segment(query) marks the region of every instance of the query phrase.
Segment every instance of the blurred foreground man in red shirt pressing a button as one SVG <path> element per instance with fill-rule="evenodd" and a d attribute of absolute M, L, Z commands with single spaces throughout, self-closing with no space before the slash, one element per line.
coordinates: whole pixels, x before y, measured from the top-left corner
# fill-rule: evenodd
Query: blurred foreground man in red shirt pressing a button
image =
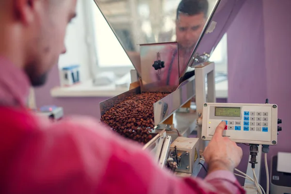
<path fill-rule="evenodd" d="M 1 194 L 237 194 L 233 175 L 242 149 L 222 137 L 221 123 L 204 152 L 207 177 L 178 178 L 142 147 L 90 118 L 43 120 L 25 108 L 65 53 L 76 0 L 0 0 Z"/>

